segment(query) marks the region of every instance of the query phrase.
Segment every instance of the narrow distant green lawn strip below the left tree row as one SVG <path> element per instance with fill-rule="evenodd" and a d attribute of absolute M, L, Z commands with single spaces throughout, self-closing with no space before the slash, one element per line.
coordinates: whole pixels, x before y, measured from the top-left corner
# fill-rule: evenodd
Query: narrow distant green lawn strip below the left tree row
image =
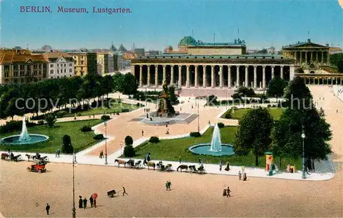
<path fill-rule="evenodd" d="M 126 103 L 113 103 L 111 108 L 106 108 L 106 107 L 99 107 L 99 108 L 94 108 L 91 110 L 85 110 L 82 112 L 76 112 L 76 116 L 88 116 L 88 115 L 96 115 L 96 114 L 104 114 L 105 110 L 107 114 L 112 114 L 112 113 L 121 113 L 122 109 L 128 109 L 129 111 L 136 110 L 137 105 L 135 104 L 126 104 Z M 74 117 L 74 113 L 70 114 L 65 114 L 64 117 Z"/>

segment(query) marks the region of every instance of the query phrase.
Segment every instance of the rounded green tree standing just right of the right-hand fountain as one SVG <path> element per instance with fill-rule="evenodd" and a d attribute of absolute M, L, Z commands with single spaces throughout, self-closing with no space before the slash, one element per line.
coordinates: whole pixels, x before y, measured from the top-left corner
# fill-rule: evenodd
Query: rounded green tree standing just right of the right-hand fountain
<path fill-rule="evenodd" d="M 264 154 L 271 143 L 270 132 L 273 119 L 266 108 L 248 110 L 239 120 L 234 143 L 235 153 L 255 154 L 255 165 L 259 165 L 259 156 Z"/>

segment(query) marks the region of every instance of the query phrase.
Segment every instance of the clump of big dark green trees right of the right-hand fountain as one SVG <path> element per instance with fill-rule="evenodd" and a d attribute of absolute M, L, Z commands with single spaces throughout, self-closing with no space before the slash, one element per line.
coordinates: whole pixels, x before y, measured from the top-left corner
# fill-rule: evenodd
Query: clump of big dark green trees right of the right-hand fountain
<path fill-rule="evenodd" d="M 235 138 L 235 152 L 255 154 L 258 158 L 267 151 L 280 158 L 299 158 L 303 154 L 305 133 L 305 158 L 317 160 L 327 158 L 331 153 L 328 141 L 331 139 L 330 125 L 316 109 L 309 88 L 300 77 L 296 77 L 285 88 L 287 108 L 279 121 L 273 121 L 265 108 L 250 110 L 239 121 Z"/>

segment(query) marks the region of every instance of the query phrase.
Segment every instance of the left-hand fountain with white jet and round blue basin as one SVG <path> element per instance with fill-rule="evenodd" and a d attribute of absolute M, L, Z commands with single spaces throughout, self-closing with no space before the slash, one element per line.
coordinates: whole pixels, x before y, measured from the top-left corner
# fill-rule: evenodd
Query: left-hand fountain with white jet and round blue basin
<path fill-rule="evenodd" d="M 24 144 L 34 144 L 47 141 L 49 136 L 40 135 L 40 134 L 29 134 L 26 127 L 26 118 L 23 117 L 23 125 L 21 128 L 20 135 L 8 136 L 1 138 L 0 143 L 8 145 L 24 145 Z"/>

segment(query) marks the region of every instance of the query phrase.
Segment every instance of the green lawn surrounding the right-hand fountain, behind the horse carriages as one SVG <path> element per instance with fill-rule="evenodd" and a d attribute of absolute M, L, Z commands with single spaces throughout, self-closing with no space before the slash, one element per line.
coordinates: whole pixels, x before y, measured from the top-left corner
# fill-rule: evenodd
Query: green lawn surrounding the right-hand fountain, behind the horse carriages
<path fill-rule="evenodd" d="M 222 143 L 233 143 L 235 141 L 235 132 L 237 127 L 226 126 L 220 129 L 222 135 Z M 249 154 L 248 156 L 224 156 L 224 157 L 214 157 L 206 155 L 197 155 L 189 152 L 188 148 L 191 145 L 196 145 L 198 143 L 210 143 L 213 134 L 213 128 L 209 128 L 202 137 L 193 138 L 177 138 L 169 140 L 161 140 L 159 143 L 143 143 L 138 147 L 135 147 L 136 157 L 144 158 L 147 152 L 151 153 L 153 160 L 174 160 L 178 161 L 178 157 L 181 156 L 182 161 L 187 162 L 198 162 L 199 158 L 202 158 L 204 163 L 214 163 L 218 164 L 222 159 L 224 162 L 229 161 L 230 165 L 244 165 L 244 166 L 255 166 L 255 156 Z M 265 167 L 265 156 L 259 158 L 259 167 Z M 277 160 L 278 162 L 279 160 Z M 293 160 L 282 160 L 283 166 L 285 167 L 287 163 L 294 163 L 296 166 L 301 166 L 301 159 Z M 279 165 L 278 165 L 279 166 Z"/>

